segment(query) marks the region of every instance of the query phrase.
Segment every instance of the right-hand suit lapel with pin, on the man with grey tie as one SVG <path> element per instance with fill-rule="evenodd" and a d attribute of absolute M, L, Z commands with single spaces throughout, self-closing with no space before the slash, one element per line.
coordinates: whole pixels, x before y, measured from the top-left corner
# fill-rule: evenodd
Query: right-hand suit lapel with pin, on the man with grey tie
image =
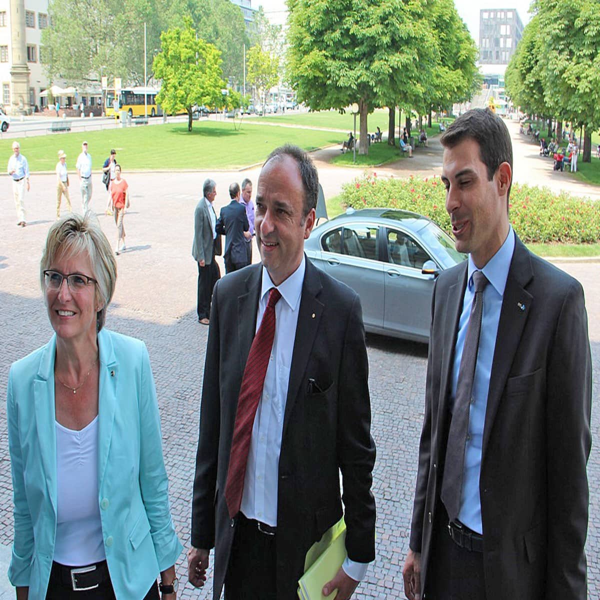
<path fill-rule="evenodd" d="M 533 296 L 525 289 L 532 277 L 533 269 L 529 251 L 520 239 L 516 238 L 511 268 L 506 278 L 502 308 L 500 309 L 500 321 L 490 374 L 490 389 L 488 390 L 487 408 L 485 410 L 482 461 L 485 457 L 487 443 L 490 440 L 491 429 L 506 385 L 506 379 L 521 342 L 521 335 L 527 317 L 532 309 Z M 521 310 L 521 306 L 525 310 Z"/>

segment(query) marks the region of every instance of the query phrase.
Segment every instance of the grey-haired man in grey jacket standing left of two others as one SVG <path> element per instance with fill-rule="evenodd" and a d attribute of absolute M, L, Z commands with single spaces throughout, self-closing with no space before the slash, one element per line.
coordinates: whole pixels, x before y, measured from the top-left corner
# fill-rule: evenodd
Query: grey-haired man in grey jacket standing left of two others
<path fill-rule="evenodd" d="M 221 277 L 215 251 L 217 250 L 217 215 L 212 203 L 217 196 L 217 184 L 212 179 L 206 179 L 202 193 L 204 194 L 194 211 L 194 243 L 191 254 L 198 263 L 198 293 L 197 313 L 198 322 L 208 325 L 211 314 L 212 288 Z"/>

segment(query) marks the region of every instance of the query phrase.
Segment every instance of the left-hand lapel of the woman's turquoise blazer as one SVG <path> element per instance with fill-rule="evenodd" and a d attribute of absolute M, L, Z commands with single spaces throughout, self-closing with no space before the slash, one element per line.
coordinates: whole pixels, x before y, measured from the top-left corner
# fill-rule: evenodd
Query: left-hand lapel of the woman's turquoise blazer
<path fill-rule="evenodd" d="M 54 397 L 54 362 L 56 334 L 46 346 L 34 379 L 35 425 L 40 443 L 41 462 L 56 514 L 56 407 Z"/>

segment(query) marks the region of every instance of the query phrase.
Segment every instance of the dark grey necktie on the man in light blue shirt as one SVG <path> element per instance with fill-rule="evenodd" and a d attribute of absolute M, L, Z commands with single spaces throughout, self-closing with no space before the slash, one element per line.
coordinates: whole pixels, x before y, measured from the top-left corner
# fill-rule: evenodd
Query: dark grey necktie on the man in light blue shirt
<path fill-rule="evenodd" d="M 463 491 L 464 449 L 469 432 L 469 407 L 472 402 L 473 378 L 479 349 L 481 316 L 484 308 L 484 289 L 488 280 L 481 271 L 473 273 L 475 298 L 471 306 L 467 335 L 464 338 L 463 356 L 458 369 L 458 383 L 454 410 L 448 433 L 446 461 L 442 482 L 442 502 L 448 517 L 454 521 L 458 517 L 460 498 Z"/>

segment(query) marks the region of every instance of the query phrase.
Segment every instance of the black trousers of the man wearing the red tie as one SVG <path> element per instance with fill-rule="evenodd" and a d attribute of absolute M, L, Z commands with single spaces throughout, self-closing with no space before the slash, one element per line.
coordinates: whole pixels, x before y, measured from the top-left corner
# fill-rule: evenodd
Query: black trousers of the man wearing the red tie
<path fill-rule="evenodd" d="M 225 600 L 283 600 L 277 598 L 276 535 L 261 533 L 256 521 L 239 514 L 225 575 Z"/>

